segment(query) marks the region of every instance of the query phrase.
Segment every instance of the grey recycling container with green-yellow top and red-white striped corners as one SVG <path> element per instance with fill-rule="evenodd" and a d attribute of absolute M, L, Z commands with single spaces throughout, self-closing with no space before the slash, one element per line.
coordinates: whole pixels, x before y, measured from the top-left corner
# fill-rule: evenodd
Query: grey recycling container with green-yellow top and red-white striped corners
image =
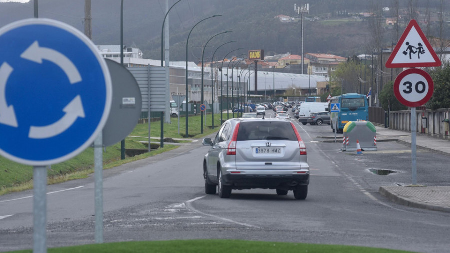
<path fill-rule="evenodd" d="M 376 151 L 376 128 L 369 121 L 350 121 L 345 124 L 342 151 L 357 151 L 359 142 L 363 151 Z"/>

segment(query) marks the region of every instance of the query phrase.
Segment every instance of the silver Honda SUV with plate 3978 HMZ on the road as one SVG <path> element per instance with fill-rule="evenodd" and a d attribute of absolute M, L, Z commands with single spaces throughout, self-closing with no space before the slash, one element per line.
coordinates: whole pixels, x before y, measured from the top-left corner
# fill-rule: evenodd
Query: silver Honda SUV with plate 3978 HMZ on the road
<path fill-rule="evenodd" d="M 203 160 L 206 194 L 229 198 L 233 189 L 276 189 L 278 195 L 293 190 L 306 199 L 309 165 L 306 146 L 294 124 L 269 118 L 233 118 L 225 121 Z"/>

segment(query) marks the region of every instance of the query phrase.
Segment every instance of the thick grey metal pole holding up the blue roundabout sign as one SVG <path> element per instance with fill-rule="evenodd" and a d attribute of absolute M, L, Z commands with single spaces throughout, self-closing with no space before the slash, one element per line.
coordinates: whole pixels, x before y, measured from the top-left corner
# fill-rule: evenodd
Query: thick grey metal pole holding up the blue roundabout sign
<path fill-rule="evenodd" d="M 33 167 L 33 252 L 47 252 L 47 167 Z"/>

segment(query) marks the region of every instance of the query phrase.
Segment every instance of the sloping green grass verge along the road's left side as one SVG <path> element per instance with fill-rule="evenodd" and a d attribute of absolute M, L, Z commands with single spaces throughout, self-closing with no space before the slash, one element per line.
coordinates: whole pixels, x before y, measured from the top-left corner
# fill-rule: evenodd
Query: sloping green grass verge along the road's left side
<path fill-rule="evenodd" d="M 200 116 L 189 116 L 189 136 L 200 138 L 217 131 L 220 126 L 220 114 L 215 114 L 214 117 L 214 126 L 216 127 L 212 129 L 212 117 L 211 115 L 208 115 L 208 121 L 204 127 L 203 134 L 201 134 Z M 184 132 L 185 135 L 185 118 L 181 117 L 180 119 L 180 132 Z M 150 137 L 160 137 L 161 122 L 151 122 L 150 130 Z M 148 149 L 148 146 L 145 143 L 138 141 L 148 141 L 148 123 L 136 125 L 134 130 L 129 135 L 138 137 L 126 137 L 126 149 Z M 171 124 L 164 123 L 164 138 L 183 138 L 184 135 L 178 134 L 178 118 L 171 118 Z M 152 139 L 152 141 L 154 140 Z M 185 143 L 189 141 L 179 142 Z M 152 155 L 157 155 L 161 152 L 170 151 L 174 148 L 177 148 L 177 146 L 170 145 L 170 143 L 165 142 L 163 148 L 158 148 L 150 153 L 144 153 L 133 157 L 126 156 L 124 160 L 121 160 L 120 143 L 117 143 L 105 148 L 105 151 L 103 152 L 103 168 L 108 169 L 138 159 L 144 159 Z M 93 171 L 94 149 L 89 147 L 70 160 L 51 165 L 47 170 L 47 182 L 48 184 L 55 184 L 73 179 L 86 178 L 89 174 L 92 174 Z M 0 195 L 32 189 L 32 178 L 32 166 L 16 163 L 0 156 Z"/>

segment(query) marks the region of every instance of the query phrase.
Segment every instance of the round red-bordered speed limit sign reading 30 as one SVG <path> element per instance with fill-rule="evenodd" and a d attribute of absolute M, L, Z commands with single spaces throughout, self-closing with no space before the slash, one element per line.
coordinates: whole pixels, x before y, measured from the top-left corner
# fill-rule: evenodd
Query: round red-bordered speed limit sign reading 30
<path fill-rule="evenodd" d="M 422 106 L 431 98 L 433 91 L 431 76 L 421 69 L 404 70 L 395 78 L 395 97 L 408 107 Z"/>

